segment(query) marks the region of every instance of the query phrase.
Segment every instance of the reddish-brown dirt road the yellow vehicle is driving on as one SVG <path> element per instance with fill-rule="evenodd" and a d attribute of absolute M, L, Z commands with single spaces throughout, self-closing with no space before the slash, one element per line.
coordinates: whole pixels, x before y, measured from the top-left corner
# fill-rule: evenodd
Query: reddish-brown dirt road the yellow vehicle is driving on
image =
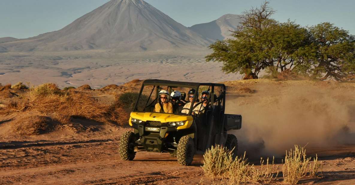
<path fill-rule="evenodd" d="M 117 146 L 118 140 L 113 139 L 2 142 L 0 185 L 212 183 L 203 175 L 201 155 L 191 166 L 178 165 L 167 153 L 140 152 L 133 161 L 122 161 Z M 322 178 L 304 179 L 301 183 L 355 183 L 355 145 L 317 150 L 323 150 L 324 156 L 324 151 L 331 151 L 330 156 L 321 157 Z"/>

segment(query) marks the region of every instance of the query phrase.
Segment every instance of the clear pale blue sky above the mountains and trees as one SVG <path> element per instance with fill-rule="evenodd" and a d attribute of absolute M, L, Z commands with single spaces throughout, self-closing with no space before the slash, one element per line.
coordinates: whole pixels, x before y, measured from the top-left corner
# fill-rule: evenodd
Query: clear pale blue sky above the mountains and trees
<path fill-rule="evenodd" d="M 27 38 L 55 31 L 109 0 L 0 0 L 0 37 Z M 146 0 L 185 26 L 240 14 L 263 0 Z M 278 21 L 302 26 L 331 22 L 355 35 L 355 0 L 270 0 Z"/>

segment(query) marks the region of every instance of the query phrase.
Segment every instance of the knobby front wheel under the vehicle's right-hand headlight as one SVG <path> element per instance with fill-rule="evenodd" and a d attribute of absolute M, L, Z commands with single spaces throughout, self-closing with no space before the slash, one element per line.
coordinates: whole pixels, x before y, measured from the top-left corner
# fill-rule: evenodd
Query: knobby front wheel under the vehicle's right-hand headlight
<path fill-rule="evenodd" d="M 190 165 L 193 160 L 193 155 L 195 155 L 195 143 L 193 139 L 189 136 L 181 137 L 176 151 L 178 163 L 183 166 Z"/>

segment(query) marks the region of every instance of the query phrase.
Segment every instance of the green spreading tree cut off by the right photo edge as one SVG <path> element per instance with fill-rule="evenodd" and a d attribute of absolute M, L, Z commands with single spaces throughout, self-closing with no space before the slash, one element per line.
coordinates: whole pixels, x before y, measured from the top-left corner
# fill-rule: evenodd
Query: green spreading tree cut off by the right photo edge
<path fill-rule="evenodd" d="M 313 78 L 342 81 L 355 73 L 355 37 L 329 22 L 309 28 L 316 44 Z"/>

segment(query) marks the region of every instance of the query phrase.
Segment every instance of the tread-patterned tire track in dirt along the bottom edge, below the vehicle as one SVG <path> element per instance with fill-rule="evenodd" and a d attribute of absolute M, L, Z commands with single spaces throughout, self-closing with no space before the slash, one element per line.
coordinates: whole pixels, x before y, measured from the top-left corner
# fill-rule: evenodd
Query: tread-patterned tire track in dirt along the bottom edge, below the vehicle
<path fill-rule="evenodd" d="M 175 171 L 175 170 L 155 171 L 155 172 L 151 172 L 151 173 L 116 176 L 116 177 L 107 178 L 107 179 L 88 180 L 88 181 L 83 182 L 83 184 L 92 184 L 92 185 L 136 184 L 137 180 L 139 180 L 140 183 L 151 183 L 151 182 L 159 181 L 159 180 L 163 180 L 163 179 L 176 178 L 176 175 L 179 175 L 181 173 L 183 173 L 183 171 Z"/>

